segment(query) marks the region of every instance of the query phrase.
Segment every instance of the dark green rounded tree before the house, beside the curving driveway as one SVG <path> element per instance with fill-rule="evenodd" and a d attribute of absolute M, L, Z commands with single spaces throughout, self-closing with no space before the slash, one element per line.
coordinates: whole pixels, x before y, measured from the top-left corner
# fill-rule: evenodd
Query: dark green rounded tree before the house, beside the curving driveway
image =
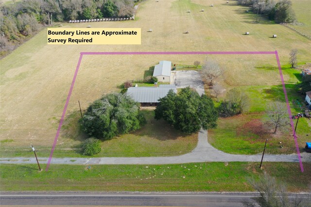
<path fill-rule="evenodd" d="M 178 95 L 170 90 L 159 101 L 155 118 L 163 118 L 176 129 L 192 133 L 217 126 L 218 115 L 213 101 L 206 95 L 199 96 L 190 87 L 183 88 Z"/>

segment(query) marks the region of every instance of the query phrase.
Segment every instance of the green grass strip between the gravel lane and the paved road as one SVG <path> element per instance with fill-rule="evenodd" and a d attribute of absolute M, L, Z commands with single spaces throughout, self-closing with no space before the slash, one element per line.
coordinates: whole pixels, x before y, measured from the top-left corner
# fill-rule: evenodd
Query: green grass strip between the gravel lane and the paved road
<path fill-rule="evenodd" d="M 264 162 L 262 170 L 247 162 L 87 167 L 51 165 L 38 172 L 35 164 L 1 164 L 1 191 L 254 191 L 247 178 L 264 171 L 289 191 L 308 191 L 311 184 L 310 163 L 304 163 L 305 173 L 298 163 L 283 162 Z"/>

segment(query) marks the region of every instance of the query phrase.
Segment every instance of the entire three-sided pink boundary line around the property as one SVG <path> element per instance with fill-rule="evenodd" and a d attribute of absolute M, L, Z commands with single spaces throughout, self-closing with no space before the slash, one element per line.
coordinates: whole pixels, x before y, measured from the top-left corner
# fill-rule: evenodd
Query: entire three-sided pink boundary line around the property
<path fill-rule="evenodd" d="M 45 171 L 49 170 L 49 167 L 50 167 L 50 164 L 51 164 L 53 152 L 54 152 L 54 149 L 55 149 L 55 146 L 56 146 L 56 143 L 57 143 L 57 139 L 59 137 L 60 129 L 61 129 L 62 125 L 63 125 L 63 121 L 64 121 L 65 114 L 66 114 L 66 111 L 67 111 L 67 107 L 68 107 L 68 104 L 69 104 L 69 99 L 70 99 L 70 96 L 71 96 L 71 93 L 72 93 L 72 89 L 73 89 L 76 77 L 78 75 L 78 71 L 79 71 L 79 67 L 80 67 L 83 55 L 200 55 L 200 54 L 201 55 L 208 55 L 208 54 L 210 54 L 210 55 L 275 54 L 276 55 L 277 65 L 278 65 L 278 69 L 279 69 L 279 73 L 280 73 L 280 77 L 281 77 L 281 81 L 282 81 L 283 92 L 284 92 L 284 95 L 285 95 L 287 110 L 288 110 L 288 113 L 289 113 L 289 116 L 290 116 L 291 126 L 292 126 L 292 129 L 293 129 L 293 132 L 294 132 L 294 122 L 293 122 L 293 119 L 292 119 L 292 112 L 291 112 L 291 109 L 290 109 L 290 106 L 289 106 L 289 102 L 288 102 L 288 97 L 287 97 L 287 93 L 286 93 L 285 83 L 284 83 L 284 79 L 283 79 L 282 69 L 281 69 L 281 65 L 280 65 L 280 62 L 279 62 L 277 50 L 274 51 L 274 52 L 272 52 L 272 51 L 234 51 L 234 52 L 233 51 L 227 51 L 227 52 L 225 52 L 225 51 L 223 51 L 223 52 L 80 52 L 80 58 L 79 58 L 79 61 L 78 61 L 78 64 L 77 64 L 77 67 L 76 67 L 76 70 L 75 70 L 72 82 L 71 82 L 71 86 L 70 86 L 70 89 L 69 89 L 69 93 L 68 93 L 68 96 L 67 96 L 67 100 L 66 100 L 66 103 L 65 103 L 63 114 L 62 114 L 62 117 L 60 119 L 60 122 L 59 122 L 59 125 L 58 125 L 58 128 L 57 128 L 55 139 L 54 139 L 54 142 L 53 142 L 53 145 L 52 145 L 51 154 L 50 154 L 50 157 L 49 157 L 49 160 L 48 160 L 47 167 L 46 167 Z M 299 151 L 299 147 L 298 147 L 298 143 L 297 143 L 297 137 L 296 137 L 295 134 L 294 134 L 294 141 L 295 141 L 297 155 L 298 155 L 298 159 L 299 159 L 299 163 L 300 163 L 300 169 L 301 169 L 301 172 L 303 172 L 304 171 L 303 170 L 303 165 L 302 165 L 300 151 Z"/>

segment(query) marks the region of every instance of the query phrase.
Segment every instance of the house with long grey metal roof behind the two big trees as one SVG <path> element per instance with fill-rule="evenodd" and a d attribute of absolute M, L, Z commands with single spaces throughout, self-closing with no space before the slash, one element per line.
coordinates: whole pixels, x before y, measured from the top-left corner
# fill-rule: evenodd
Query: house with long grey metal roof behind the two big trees
<path fill-rule="evenodd" d="M 160 85 L 159 87 L 130 87 L 127 96 L 131 96 L 140 106 L 156 106 L 158 99 L 166 96 L 170 90 L 177 93 L 175 85 Z"/>

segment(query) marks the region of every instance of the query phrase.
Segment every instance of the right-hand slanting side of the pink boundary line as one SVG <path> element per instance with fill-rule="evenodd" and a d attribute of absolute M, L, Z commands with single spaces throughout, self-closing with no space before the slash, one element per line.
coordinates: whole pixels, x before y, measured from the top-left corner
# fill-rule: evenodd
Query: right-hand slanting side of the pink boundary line
<path fill-rule="evenodd" d="M 288 112 L 288 114 L 290 116 L 290 121 L 291 121 L 292 130 L 293 130 L 293 136 L 294 136 L 294 141 L 295 141 L 297 155 L 298 155 L 299 164 L 300 164 L 300 170 L 301 170 L 301 172 L 303 172 L 304 169 L 303 169 L 303 165 L 302 165 L 302 161 L 301 161 L 301 155 L 300 155 L 300 150 L 299 150 L 299 146 L 298 146 L 298 142 L 297 142 L 297 136 L 296 136 L 296 132 L 295 132 L 295 128 L 294 128 L 294 121 L 293 121 L 293 118 L 292 118 L 292 111 L 291 111 L 290 104 L 289 104 L 288 97 L 287 97 L 285 82 L 284 82 L 282 68 L 281 68 L 280 60 L 278 58 L 277 50 L 275 51 L 275 54 L 276 54 L 276 62 L 277 62 L 277 66 L 278 66 L 278 72 L 280 73 L 280 77 L 281 77 L 281 81 L 282 81 L 282 87 L 283 87 L 283 92 L 284 92 L 284 95 L 285 95 L 285 101 L 286 101 L 286 105 L 287 105 L 287 112 Z"/>

